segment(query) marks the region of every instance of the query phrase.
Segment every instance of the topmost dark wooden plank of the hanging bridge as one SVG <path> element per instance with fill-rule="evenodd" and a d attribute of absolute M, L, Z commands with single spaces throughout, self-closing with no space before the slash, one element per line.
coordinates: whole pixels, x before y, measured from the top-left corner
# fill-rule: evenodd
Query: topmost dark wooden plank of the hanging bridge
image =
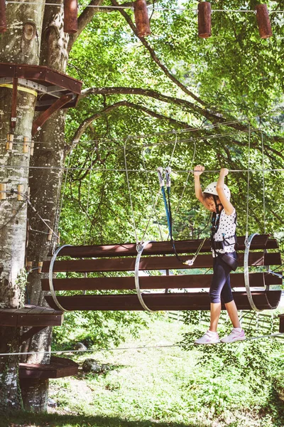
<path fill-rule="evenodd" d="M 244 251 L 245 236 L 238 237 L 238 250 Z M 175 248 L 178 253 L 195 253 L 202 240 L 176 241 Z M 268 239 L 268 235 L 260 235 L 253 238 L 251 250 L 276 249 L 278 243 L 274 238 Z M 204 242 L 201 252 L 210 252 L 209 239 Z M 173 253 L 170 241 L 152 242 L 144 249 L 145 255 L 169 255 Z M 94 245 L 94 246 L 66 246 L 60 251 L 60 256 L 68 255 L 72 258 L 99 258 L 116 256 L 136 256 L 136 243 L 117 243 L 114 245 Z"/>

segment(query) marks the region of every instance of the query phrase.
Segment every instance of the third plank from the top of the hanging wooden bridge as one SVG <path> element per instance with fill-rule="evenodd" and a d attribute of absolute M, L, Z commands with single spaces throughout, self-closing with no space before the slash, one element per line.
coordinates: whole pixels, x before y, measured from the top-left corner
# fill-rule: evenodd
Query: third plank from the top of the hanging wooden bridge
<path fill-rule="evenodd" d="M 282 285 L 282 279 L 266 275 L 266 273 L 251 273 L 251 287 L 263 286 L 264 278 L 266 285 Z M 141 289 L 165 289 L 165 288 L 209 288 L 212 281 L 212 274 L 192 274 L 192 275 L 158 275 L 142 276 L 139 278 Z M 111 277 L 111 278 L 70 278 L 53 279 L 55 290 L 131 290 L 135 289 L 134 277 Z M 243 288 L 244 274 L 231 274 L 231 287 Z M 43 290 L 50 290 L 49 280 L 42 279 Z"/>

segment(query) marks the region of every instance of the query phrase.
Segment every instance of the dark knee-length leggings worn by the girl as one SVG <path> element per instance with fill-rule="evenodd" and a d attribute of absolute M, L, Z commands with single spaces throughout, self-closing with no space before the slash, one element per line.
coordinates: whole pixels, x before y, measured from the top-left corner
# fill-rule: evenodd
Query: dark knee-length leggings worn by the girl
<path fill-rule="evenodd" d="M 230 253 L 236 258 L 236 253 Z M 224 263 L 221 256 L 213 258 L 213 278 L 209 290 L 210 302 L 231 302 L 234 300 L 230 284 L 231 267 Z"/>

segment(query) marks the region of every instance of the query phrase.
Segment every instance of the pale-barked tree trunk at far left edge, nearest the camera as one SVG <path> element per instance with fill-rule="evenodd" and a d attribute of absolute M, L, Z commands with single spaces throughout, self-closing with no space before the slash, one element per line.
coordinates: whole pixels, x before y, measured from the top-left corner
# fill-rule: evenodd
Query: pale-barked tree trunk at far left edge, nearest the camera
<path fill-rule="evenodd" d="M 0 38 L 0 62 L 38 64 L 38 46 L 43 20 L 43 6 L 30 4 L 9 4 L 6 10 L 8 30 Z M 18 90 L 16 127 L 11 126 L 11 88 L 0 88 L 0 113 L 2 141 L 1 183 L 7 191 L 28 194 L 29 154 L 23 154 L 23 138 L 31 140 L 31 128 L 35 108 L 35 96 Z M 13 125 L 13 123 L 12 123 Z M 14 134 L 14 144 L 6 151 L 7 134 Z M 0 201 L 0 304 L 1 307 L 18 308 L 23 305 L 26 285 L 25 246 L 27 206 L 18 201 L 17 194 L 6 194 Z M 18 352 L 19 330 L 2 327 L 0 334 L 1 352 Z M 18 386 L 18 357 L 0 359 L 0 413 L 9 413 L 21 408 L 21 394 Z"/>

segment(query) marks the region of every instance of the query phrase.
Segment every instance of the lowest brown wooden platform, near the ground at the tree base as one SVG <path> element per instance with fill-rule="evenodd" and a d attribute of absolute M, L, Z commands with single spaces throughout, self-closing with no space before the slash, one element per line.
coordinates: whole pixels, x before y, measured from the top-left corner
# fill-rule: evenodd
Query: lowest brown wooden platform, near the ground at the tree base
<path fill-rule="evenodd" d="M 79 365 L 71 359 L 52 356 L 50 364 L 20 363 L 18 376 L 21 380 L 62 378 L 63 376 L 77 375 L 78 368 Z"/>

